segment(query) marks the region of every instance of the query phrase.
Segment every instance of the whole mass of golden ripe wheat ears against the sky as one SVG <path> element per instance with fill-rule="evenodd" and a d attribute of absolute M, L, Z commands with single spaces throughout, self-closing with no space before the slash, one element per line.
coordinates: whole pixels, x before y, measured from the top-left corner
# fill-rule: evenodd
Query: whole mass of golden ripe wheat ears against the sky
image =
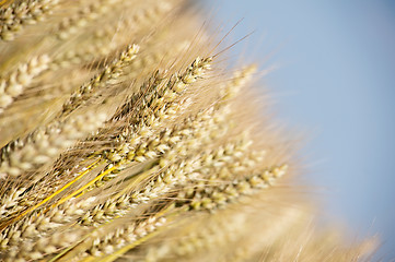
<path fill-rule="evenodd" d="M 190 2 L 0 4 L 0 261 L 362 258 Z"/>

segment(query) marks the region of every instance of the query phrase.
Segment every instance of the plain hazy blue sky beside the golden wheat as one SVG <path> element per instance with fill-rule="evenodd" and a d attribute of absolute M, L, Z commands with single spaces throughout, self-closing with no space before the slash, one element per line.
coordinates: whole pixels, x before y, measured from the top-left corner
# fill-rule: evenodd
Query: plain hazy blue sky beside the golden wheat
<path fill-rule="evenodd" d="M 265 76 L 280 121 L 309 134 L 302 151 L 326 217 L 357 239 L 379 235 L 395 259 L 395 1 L 205 1 L 226 56 L 276 67 Z M 222 32 L 222 33 L 224 33 Z"/>

